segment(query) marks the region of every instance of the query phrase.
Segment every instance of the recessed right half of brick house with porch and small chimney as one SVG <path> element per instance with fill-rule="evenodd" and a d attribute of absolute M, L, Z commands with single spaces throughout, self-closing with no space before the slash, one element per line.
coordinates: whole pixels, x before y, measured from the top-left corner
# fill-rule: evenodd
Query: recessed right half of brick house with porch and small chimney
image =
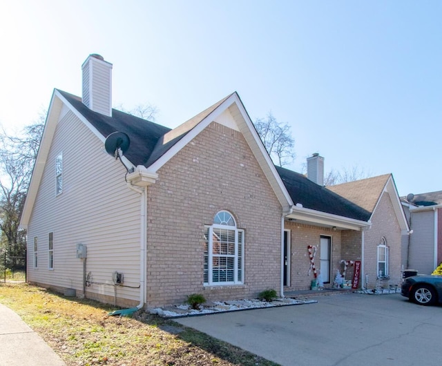
<path fill-rule="evenodd" d="M 325 287 L 339 271 L 351 281 L 361 262 L 359 287 L 401 283 L 401 234 L 408 232 L 392 175 L 336 186 L 323 186 L 324 158 L 307 159 L 307 177 L 278 168 L 295 206 L 286 217 L 291 271 L 286 291 L 309 286 L 311 261 L 307 247 L 316 247 L 315 267 Z M 318 183 L 316 183 L 318 182 Z"/>

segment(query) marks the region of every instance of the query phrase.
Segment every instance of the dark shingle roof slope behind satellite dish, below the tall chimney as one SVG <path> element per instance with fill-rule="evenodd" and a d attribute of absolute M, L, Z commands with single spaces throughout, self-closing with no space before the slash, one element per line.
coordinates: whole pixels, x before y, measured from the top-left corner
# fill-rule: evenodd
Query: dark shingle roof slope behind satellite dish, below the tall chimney
<path fill-rule="evenodd" d="M 160 137 L 171 131 L 171 128 L 116 109 L 112 110 L 112 117 L 93 112 L 81 102 L 81 98 L 61 90 L 58 91 L 104 137 L 108 137 L 115 131 L 126 133 L 131 139 L 131 145 L 124 155 L 135 166 L 146 164 Z"/>

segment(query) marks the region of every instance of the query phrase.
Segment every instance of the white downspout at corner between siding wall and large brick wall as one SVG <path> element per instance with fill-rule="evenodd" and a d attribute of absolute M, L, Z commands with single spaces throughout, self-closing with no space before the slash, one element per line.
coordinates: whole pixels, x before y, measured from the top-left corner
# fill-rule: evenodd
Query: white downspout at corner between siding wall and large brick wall
<path fill-rule="evenodd" d="M 128 187 L 140 193 L 140 304 L 137 309 L 142 309 L 146 303 L 146 207 L 147 207 L 147 187 L 142 189 L 128 183 Z"/>

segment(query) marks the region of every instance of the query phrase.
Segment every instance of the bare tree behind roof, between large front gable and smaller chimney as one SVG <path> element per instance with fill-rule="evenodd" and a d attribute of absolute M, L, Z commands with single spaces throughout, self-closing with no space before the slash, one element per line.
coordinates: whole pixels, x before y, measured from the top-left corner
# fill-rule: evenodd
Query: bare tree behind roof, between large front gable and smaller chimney
<path fill-rule="evenodd" d="M 256 119 L 254 125 L 273 162 L 284 166 L 294 161 L 295 140 L 291 137 L 291 127 L 287 122 L 278 122 L 269 112 L 265 119 Z"/>

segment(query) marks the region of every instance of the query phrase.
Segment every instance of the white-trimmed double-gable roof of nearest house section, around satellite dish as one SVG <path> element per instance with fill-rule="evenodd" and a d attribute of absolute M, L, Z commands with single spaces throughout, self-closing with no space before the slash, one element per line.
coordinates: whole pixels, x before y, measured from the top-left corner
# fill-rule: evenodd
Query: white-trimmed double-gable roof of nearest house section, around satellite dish
<path fill-rule="evenodd" d="M 122 157 L 123 160 L 132 165 L 134 173 L 127 175 L 127 179 L 133 182 L 140 182 L 139 177 L 146 177 L 144 182 L 154 182 L 157 171 L 178 153 L 191 139 L 200 133 L 211 122 L 220 117 L 226 110 L 229 111 L 239 131 L 246 139 L 253 155 L 267 177 L 282 211 L 287 212 L 293 205 L 290 195 L 285 189 L 275 166 L 271 162 L 269 154 L 265 150 L 253 123 L 241 102 L 238 93 L 221 99 L 195 117 L 189 119 L 177 128 L 171 129 L 154 122 L 123 113 L 119 110 L 112 110 L 112 116 L 102 115 L 90 110 L 82 102 L 81 98 L 66 93 L 62 90 L 54 90 L 44 133 L 41 138 L 39 153 L 35 162 L 32 178 L 28 189 L 23 214 L 21 215 L 20 226 L 28 226 L 32 206 L 37 197 L 37 191 L 43 175 L 44 166 L 49 154 L 52 138 L 55 133 L 61 110 L 66 106 L 92 131 L 102 142 L 113 132 L 126 133 L 131 144 L 128 151 Z M 142 179 L 141 179 L 142 180 Z M 146 185 L 146 184 L 144 184 Z"/>

